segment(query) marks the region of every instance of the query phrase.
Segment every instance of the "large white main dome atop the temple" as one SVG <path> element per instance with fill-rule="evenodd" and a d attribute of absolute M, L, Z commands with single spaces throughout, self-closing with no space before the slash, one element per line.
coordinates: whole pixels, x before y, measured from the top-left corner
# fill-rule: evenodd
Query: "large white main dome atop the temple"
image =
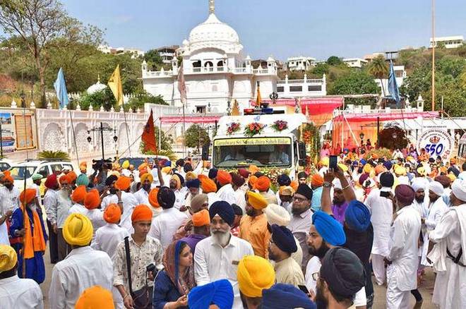
<path fill-rule="evenodd" d="M 239 36 L 233 28 L 218 20 L 214 13 L 210 13 L 205 22 L 197 25 L 189 33 L 189 43 L 201 42 L 230 42 L 239 44 Z"/>

